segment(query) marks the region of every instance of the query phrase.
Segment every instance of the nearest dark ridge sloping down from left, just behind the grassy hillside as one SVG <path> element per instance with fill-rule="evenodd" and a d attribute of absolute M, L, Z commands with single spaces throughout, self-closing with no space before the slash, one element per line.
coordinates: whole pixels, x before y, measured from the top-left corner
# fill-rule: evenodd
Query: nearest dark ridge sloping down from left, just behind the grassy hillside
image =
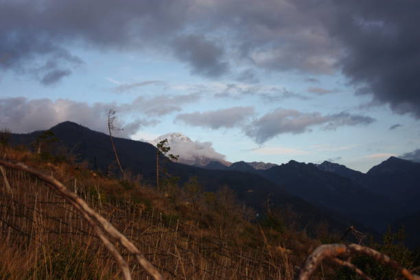
<path fill-rule="evenodd" d="M 67 152 L 78 156 L 80 161 L 87 161 L 93 169 L 104 172 L 110 165 L 115 164 L 115 155 L 110 146 L 109 136 L 102 132 L 95 132 L 71 121 L 65 121 L 51 128 L 54 135 L 60 139 L 59 145 Z M 41 131 L 22 135 L 12 135 L 15 144 L 30 145 Z M 114 137 L 119 159 L 124 170 L 132 174 L 141 174 L 143 180 L 154 184 L 156 176 L 156 148 L 150 143 Z M 264 204 L 270 196 L 270 203 L 277 207 L 292 207 L 301 215 L 299 220 L 302 227 L 311 226 L 327 221 L 334 229 L 345 229 L 352 220 L 327 208 L 315 207 L 301 198 L 290 196 L 279 185 L 270 182 L 259 174 L 240 172 L 235 170 L 209 170 L 191 165 L 173 163 L 161 160 L 169 174 L 180 177 L 180 185 L 191 176 L 197 176 L 198 181 L 206 191 L 216 191 L 226 185 L 233 189 L 238 198 L 242 199 L 258 212 L 264 211 Z M 244 163 L 246 164 L 246 163 Z M 240 163 L 240 165 L 243 165 Z M 249 166 L 249 165 L 248 165 Z M 253 170 L 253 167 L 250 167 Z M 356 223 L 357 224 L 357 223 Z"/>

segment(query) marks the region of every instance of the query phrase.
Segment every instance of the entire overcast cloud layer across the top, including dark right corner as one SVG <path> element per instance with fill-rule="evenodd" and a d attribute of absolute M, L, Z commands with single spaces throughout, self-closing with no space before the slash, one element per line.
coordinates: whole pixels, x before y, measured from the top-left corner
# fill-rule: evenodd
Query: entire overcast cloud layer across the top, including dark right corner
<path fill-rule="evenodd" d="M 0 68 L 55 60 L 36 75 L 48 84 L 80 65 L 77 44 L 174 54 L 210 78 L 234 65 L 311 79 L 340 70 L 359 94 L 420 118 L 419 10 L 418 0 L 0 1 Z"/>

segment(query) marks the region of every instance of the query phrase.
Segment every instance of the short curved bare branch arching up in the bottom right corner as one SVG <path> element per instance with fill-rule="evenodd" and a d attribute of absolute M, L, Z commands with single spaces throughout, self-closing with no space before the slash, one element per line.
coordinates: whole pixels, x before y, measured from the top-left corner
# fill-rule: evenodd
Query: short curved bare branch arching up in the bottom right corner
<path fill-rule="evenodd" d="M 360 277 L 364 279 L 370 279 L 364 273 L 355 267 L 353 264 L 349 263 L 348 261 L 343 261 L 342 259 L 338 259 L 340 256 L 354 255 L 354 254 L 363 254 L 368 255 L 369 257 L 380 261 L 382 264 L 390 266 L 398 270 L 404 278 L 408 280 L 420 280 L 419 275 L 412 274 L 408 269 L 402 267 L 397 261 L 390 259 L 384 253 L 380 253 L 377 250 L 373 250 L 372 248 L 368 248 L 365 246 L 360 246 L 358 244 L 325 244 L 321 245 L 312 252 L 312 254 L 307 257 L 305 261 L 305 265 L 301 269 L 299 273 L 298 280 L 308 280 L 314 274 L 316 268 L 320 265 L 323 259 L 330 259 L 334 261 L 336 264 L 340 264 L 341 266 L 346 266 L 351 268 L 353 271 L 358 273 Z"/>

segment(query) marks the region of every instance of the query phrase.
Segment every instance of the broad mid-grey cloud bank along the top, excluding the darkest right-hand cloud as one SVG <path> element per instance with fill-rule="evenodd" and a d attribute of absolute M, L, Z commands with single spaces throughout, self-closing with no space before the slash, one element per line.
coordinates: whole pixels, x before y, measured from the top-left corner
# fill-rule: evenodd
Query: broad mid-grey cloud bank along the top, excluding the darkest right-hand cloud
<path fill-rule="evenodd" d="M 329 73 L 336 49 L 319 23 L 287 0 L 1 1 L 0 34 L 1 67 L 21 73 L 53 56 L 73 69 L 77 58 L 67 49 L 74 43 L 169 51 L 192 73 L 213 78 L 228 73 L 235 58 L 253 67 Z M 249 74 L 240 78 L 255 80 Z"/>

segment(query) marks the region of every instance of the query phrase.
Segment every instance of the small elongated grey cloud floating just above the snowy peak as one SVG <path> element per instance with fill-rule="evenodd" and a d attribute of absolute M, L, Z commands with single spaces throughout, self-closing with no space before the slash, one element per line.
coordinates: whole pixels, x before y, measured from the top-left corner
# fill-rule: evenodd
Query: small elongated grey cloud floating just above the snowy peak
<path fill-rule="evenodd" d="M 220 110 L 209 110 L 206 112 L 194 112 L 178 114 L 175 121 L 183 121 L 190 126 L 201 126 L 204 128 L 233 128 L 240 126 L 254 114 L 253 107 L 232 107 Z"/>

